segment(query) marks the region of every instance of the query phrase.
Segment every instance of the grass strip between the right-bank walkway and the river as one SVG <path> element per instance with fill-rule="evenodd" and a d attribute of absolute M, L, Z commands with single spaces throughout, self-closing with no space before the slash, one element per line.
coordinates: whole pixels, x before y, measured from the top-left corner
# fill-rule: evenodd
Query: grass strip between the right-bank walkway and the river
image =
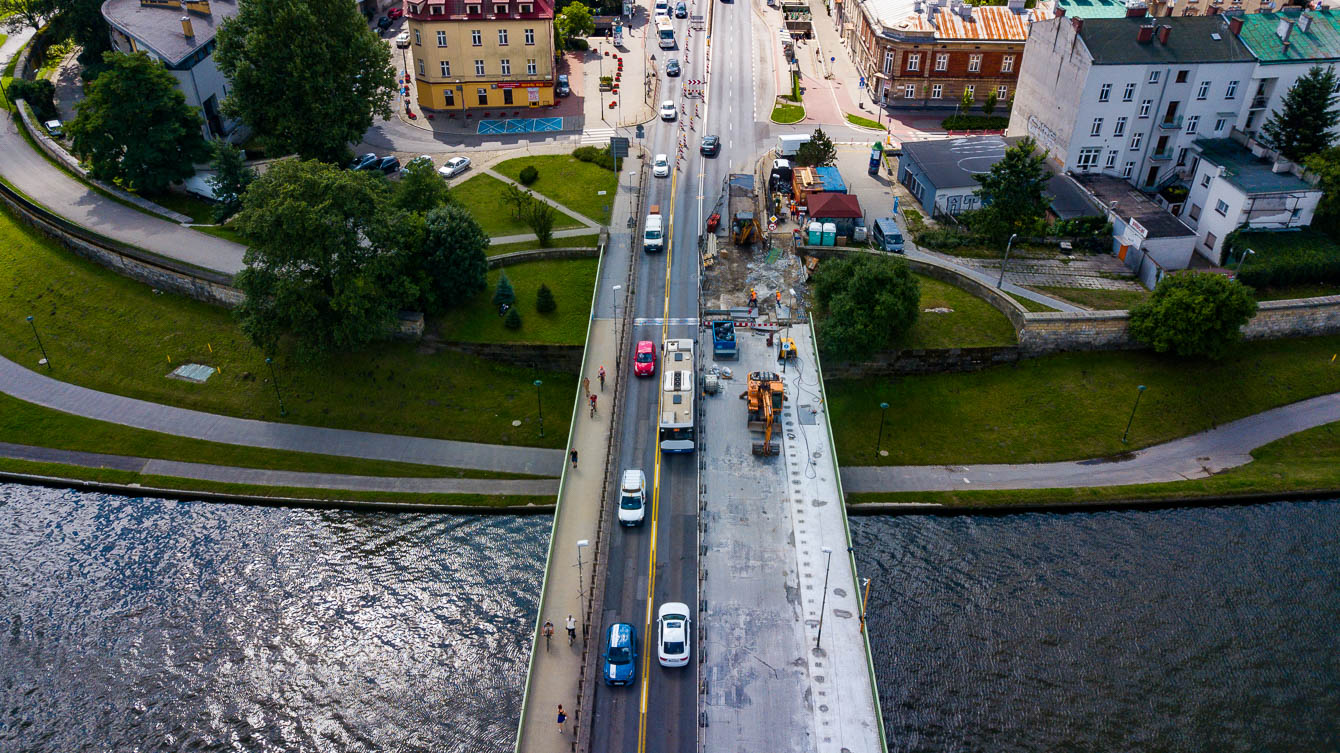
<path fill-rule="evenodd" d="M 1252 462 L 1209 478 L 1081 489 L 1004 489 L 848 494 L 852 504 L 925 502 L 947 506 L 1081 505 L 1116 501 L 1170 502 L 1205 497 L 1332 492 L 1340 489 L 1340 423 L 1308 429 L 1262 445 Z"/>

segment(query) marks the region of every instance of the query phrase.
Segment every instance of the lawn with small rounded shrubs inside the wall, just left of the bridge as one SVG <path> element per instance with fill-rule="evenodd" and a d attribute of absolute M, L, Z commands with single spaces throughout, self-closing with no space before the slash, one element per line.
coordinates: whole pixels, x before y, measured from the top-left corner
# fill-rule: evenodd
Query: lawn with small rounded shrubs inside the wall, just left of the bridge
<path fill-rule="evenodd" d="M 586 342 L 587 322 L 591 319 L 591 293 L 595 291 L 598 259 L 559 259 L 528 261 L 489 272 L 489 284 L 470 303 L 442 316 L 442 338 L 482 343 L 553 343 L 582 344 Z M 516 292 L 521 328 L 503 326 L 493 305 L 493 288 L 498 276 L 507 273 Z M 535 293 L 540 284 L 549 285 L 559 308 L 552 314 L 535 310 Z M 570 398 L 571 399 L 571 398 Z"/>

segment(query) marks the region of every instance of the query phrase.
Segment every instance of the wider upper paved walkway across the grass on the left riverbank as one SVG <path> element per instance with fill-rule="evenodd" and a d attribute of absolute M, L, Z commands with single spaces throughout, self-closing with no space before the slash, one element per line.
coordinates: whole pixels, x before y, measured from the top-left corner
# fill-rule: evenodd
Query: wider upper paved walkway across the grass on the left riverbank
<path fill-rule="evenodd" d="M 0 358 L 0 390 L 20 401 L 122 426 L 226 445 L 552 476 L 563 450 L 374 434 L 233 418 L 99 393 Z"/>

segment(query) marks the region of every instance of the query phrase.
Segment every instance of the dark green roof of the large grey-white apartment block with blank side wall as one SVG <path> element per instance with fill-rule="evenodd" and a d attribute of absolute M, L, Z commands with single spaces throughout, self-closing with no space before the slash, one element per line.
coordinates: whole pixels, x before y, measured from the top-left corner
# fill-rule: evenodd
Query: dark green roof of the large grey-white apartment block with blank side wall
<path fill-rule="evenodd" d="M 1167 44 L 1155 33 L 1136 42 L 1142 25 L 1171 27 Z M 1163 63 L 1250 63 L 1256 60 L 1242 40 L 1229 32 L 1223 16 L 1164 16 L 1158 19 L 1085 19 L 1080 39 L 1095 66 Z"/>

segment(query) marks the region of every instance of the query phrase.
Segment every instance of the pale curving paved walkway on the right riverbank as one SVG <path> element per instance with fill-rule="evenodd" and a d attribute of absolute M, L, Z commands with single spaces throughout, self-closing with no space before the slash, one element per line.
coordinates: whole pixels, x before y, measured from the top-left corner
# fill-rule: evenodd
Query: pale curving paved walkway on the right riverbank
<path fill-rule="evenodd" d="M 1209 431 L 1114 458 L 1018 465 L 846 468 L 842 472 L 842 482 L 847 492 L 947 492 L 1187 481 L 1246 465 L 1252 462 L 1252 450 L 1261 445 L 1336 421 L 1340 421 L 1340 393 L 1276 407 Z"/>

